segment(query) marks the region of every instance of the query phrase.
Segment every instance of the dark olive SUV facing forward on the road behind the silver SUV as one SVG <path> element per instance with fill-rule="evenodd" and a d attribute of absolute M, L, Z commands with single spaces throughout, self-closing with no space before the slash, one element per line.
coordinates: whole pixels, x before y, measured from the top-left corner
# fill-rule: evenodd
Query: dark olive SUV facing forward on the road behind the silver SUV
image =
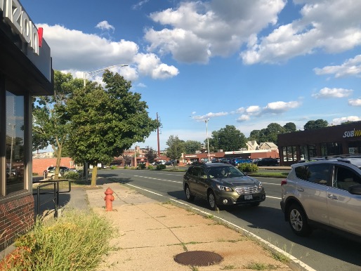
<path fill-rule="evenodd" d="M 245 175 L 238 168 L 223 163 L 198 163 L 183 176 L 183 190 L 188 201 L 206 199 L 211 210 L 218 206 L 250 204 L 258 206 L 265 200 L 260 181 Z"/>

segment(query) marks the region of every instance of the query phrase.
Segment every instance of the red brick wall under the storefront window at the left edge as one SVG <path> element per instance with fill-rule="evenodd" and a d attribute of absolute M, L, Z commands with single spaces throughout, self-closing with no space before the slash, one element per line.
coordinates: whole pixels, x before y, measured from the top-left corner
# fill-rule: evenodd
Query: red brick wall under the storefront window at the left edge
<path fill-rule="evenodd" d="M 34 197 L 28 195 L 0 204 L 0 251 L 34 225 Z"/>

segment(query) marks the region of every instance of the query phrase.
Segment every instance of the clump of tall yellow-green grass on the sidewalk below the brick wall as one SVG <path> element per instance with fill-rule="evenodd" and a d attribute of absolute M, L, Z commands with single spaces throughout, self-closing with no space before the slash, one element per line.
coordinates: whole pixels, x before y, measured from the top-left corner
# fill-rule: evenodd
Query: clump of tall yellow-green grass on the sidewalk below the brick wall
<path fill-rule="evenodd" d="M 20 237 L 5 270 L 95 270 L 110 250 L 114 229 L 96 214 L 66 212 L 57 220 L 37 220 Z"/>

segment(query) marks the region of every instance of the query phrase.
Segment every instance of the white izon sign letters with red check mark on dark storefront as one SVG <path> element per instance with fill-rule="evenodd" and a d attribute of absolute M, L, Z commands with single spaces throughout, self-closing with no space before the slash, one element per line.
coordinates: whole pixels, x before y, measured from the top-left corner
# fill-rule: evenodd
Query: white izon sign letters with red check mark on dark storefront
<path fill-rule="evenodd" d="M 38 30 L 35 27 L 20 2 L 18 0 L 0 0 L 0 11 L 13 31 L 20 35 L 22 41 L 25 41 L 36 55 L 39 55 L 43 29 L 39 28 Z"/>

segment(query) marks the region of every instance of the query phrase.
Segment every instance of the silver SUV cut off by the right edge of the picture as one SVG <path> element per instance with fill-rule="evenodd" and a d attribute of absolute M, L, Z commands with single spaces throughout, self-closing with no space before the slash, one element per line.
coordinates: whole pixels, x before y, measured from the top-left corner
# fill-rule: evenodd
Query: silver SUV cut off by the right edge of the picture
<path fill-rule="evenodd" d="M 361 156 L 294 164 L 281 190 L 281 209 L 295 234 L 317 227 L 361 240 Z"/>

